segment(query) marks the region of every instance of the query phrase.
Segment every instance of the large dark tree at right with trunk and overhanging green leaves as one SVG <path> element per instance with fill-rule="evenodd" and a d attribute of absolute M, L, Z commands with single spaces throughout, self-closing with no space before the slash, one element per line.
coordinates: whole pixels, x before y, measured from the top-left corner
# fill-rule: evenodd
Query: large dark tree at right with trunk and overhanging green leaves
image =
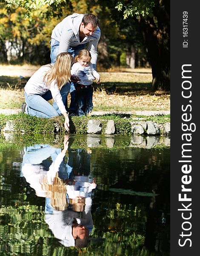
<path fill-rule="evenodd" d="M 170 1 L 120 0 L 116 8 L 124 19 L 131 16 L 140 24 L 152 68 L 152 89 L 170 90 Z"/>

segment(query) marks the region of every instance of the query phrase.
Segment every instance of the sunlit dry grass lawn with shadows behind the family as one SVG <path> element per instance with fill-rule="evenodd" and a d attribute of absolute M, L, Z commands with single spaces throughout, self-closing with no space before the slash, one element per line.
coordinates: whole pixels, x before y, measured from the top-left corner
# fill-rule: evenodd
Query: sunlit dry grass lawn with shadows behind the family
<path fill-rule="evenodd" d="M 24 102 L 24 86 L 38 66 L 0 65 L 0 108 L 20 108 Z M 170 94 L 151 91 L 151 69 L 119 69 L 99 72 L 101 83 L 94 81 L 93 111 L 167 111 Z M 24 76 L 25 79 L 19 79 Z M 105 88 L 116 84 L 114 94 Z M 68 96 L 70 102 L 70 95 Z"/>

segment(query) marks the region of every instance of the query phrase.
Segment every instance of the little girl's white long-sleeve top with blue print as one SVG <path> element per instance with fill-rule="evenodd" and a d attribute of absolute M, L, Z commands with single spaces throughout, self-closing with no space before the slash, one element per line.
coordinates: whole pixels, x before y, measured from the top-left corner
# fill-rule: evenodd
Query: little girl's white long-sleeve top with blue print
<path fill-rule="evenodd" d="M 84 85 L 92 84 L 93 80 L 100 76 L 100 74 L 94 69 L 91 62 L 87 67 L 82 67 L 79 62 L 74 63 L 71 67 L 71 75 L 78 76 L 80 81 L 77 81 L 77 84 Z"/>

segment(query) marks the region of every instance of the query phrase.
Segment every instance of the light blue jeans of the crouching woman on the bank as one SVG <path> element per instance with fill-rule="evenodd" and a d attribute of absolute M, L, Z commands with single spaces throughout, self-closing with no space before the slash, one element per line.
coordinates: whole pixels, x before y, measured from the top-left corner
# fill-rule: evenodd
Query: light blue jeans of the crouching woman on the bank
<path fill-rule="evenodd" d="M 65 84 L 61 90 L 60 94 L 62 96 L 63 104 L 66 105 L 67 95 L 70 90 L 70 83 Z M 30 116 L 37 116 L 37 117 L 46 117 L 51 118 L 54 116 L 61 116 L 60 109 L 58 108 L 57 104 L 54 102 L 51 105 L 48 100 L 52 99 L 51 91 L 47 91 L 43 95 L 34 94 L 28 95 L 25 92 L 25 101 L 26 101 L 26 114 Z"/>

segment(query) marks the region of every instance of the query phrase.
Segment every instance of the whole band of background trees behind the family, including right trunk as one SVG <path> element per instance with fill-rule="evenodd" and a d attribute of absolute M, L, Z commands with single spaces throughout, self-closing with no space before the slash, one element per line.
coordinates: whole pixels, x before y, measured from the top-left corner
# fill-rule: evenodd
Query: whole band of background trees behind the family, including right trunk
<path fill-rule="evenodd" d="M 120 65 L 122 54 L 135 58 L 137 66 L 145 66 L 150 60 L 152 88 L 170 89 L 168 0 L 5 0 L 0 4 L 3 7 L 0 26 L 6 24 L 0 34 L 1 49 L 3 47 L 0 56 L 4 62 L 7 60 L 5 40 L 13 47 L 17 45 L 18 59 L 26 56 L 30 47 L 32 52 L 40 52 L 46 62 L 53 27 L 73 12 L 90 12 L 100 20 L 100 64 L 106 68 L 111 64 Z"/>

